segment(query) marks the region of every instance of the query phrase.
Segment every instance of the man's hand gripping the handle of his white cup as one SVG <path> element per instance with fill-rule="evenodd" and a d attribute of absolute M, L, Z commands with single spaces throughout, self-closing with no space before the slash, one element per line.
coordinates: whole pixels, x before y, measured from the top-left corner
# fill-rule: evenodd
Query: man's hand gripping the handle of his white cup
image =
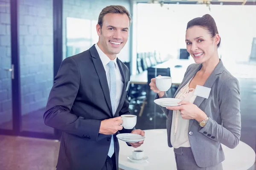
<path fill-rule="evenodd" d="M 121 116 L 115 117 L 112 119 L 105 119 L 101 121 L 100 127 L 99 127 L 99 133 L 105 134 L 105 135 L 113 135 L 118 130 L 122 130 L 122 119 Z"/>

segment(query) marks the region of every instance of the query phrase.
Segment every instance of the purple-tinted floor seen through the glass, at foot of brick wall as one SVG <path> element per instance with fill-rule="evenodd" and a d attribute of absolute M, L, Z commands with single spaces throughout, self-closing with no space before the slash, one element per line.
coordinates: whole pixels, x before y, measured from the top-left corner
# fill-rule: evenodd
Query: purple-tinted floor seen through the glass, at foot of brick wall
<path fill-rule="evenodd" d="M 38 111 L 26 114 L 22 116 L 22 131 L 31 131 L 31 132 L 42 132 L 42 133 L 54 133 L 52 127 L 44 125 L 44 115 L 45 108 L 42 108 Z M 5 122 L 0 124 L 0 129 L 12 129 L 12 122 Z"/>

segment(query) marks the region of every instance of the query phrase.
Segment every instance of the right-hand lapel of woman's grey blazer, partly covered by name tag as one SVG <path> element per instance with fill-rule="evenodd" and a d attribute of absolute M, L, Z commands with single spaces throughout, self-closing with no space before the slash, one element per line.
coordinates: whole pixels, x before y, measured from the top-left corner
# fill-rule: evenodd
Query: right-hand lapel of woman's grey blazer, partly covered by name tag
<path fill-rule="evenodd" d="M 214 70 L 212 71 L 212 74 L 210 74 L 210 76 L 208 77 L 208 79 L 206 80 L 206 82 L 204 83 L 204 87 L 207 88 L 212 88 L 212 85 L 214 84 L 214 82 L 216 81 L 216 79 L 218 78 L 218 74 L 221 74 L 224 71 L 224 65 L 222 63 L 222 61 L 220 60 L 220 62 L 218 63 L 218 65 L 214 68 Z M 198 106 L 201 105 L 201 103 L 204 101 L 204 97 L 200 97 L 200 96 L 196 96 L 194 104 Z M 189 120 L 189 129 L 192 126 L 193 122 L 195 119 L 190 119 Z"/>

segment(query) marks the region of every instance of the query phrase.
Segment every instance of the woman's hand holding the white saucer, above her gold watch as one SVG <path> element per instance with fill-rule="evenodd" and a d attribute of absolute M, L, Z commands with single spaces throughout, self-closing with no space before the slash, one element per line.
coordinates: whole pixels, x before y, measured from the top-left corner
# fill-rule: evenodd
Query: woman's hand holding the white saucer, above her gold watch
<path fill-rule="evenodd" d="M 193 103 L 182 100 L 178 102 L 178 104 L 181 105 L 166 108 L 173 111 L 180 110 L 182 119 L 195 119 L 196 121 L 200 122 L 207 117 L 204 111 L 202 111 L 200 108 L 198 108 L 197 105 L 194 105 Z"/>

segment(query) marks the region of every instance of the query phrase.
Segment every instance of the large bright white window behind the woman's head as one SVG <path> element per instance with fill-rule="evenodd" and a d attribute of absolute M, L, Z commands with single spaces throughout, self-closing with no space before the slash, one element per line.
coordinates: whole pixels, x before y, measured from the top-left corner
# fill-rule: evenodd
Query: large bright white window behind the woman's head
<path fill-rule="evenodd" d="M 139 3 L 137 52 L 156 50 L 167 58 L 177 58 L 180 48 L 186 48 L 186 24 L 204 14 L 210 14 L 215 19 L 221 36 L 219 56 L 224 62 L 241 63 L 253 58 L 256 6 L 211 5 L 209 8 L 206 5 Z M 230 67 L 230 70 L 237 71 L 236 67 Z M 242 71 L 248 72 L 247 69 Z"/>

